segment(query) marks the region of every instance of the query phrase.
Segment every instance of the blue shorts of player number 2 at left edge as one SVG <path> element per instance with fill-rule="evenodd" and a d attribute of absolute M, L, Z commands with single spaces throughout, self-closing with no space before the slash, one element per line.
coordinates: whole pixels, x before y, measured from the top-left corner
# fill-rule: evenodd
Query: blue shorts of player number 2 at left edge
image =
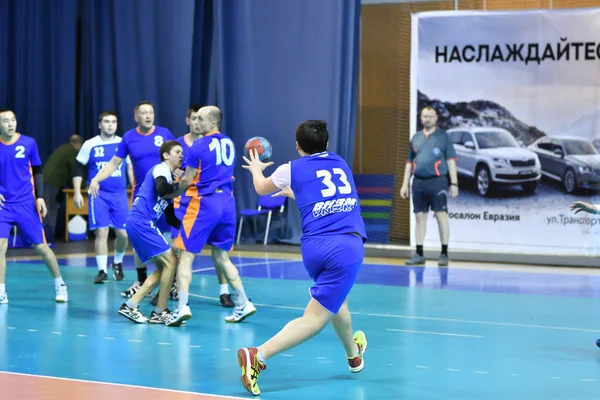
<path fill-rule="evenodd" d="M 4 204 L 0 209 L 0 239 L 8 239 L 10 229 L 17 225 L 19 235 L 33 243 L 46 243 L 44 225 L 35 200 L 26 204 Z"/>

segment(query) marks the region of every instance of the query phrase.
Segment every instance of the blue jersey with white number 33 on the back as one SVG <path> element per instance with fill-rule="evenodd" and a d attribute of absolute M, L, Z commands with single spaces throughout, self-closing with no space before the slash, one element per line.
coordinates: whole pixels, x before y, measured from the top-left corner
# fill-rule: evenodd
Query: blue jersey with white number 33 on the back
<path fill-rule="evenodd" d="M 305 236 L 357 233 L 367 240 L 352 171 L 343 158 L 317 153 L 292 161 L 290 170 Z"/>

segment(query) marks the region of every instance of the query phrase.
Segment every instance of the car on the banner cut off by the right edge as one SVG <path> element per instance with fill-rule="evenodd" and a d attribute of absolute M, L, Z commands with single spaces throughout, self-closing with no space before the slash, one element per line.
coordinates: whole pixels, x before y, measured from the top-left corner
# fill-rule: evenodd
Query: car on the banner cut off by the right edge
<path fill-rule="evenodd" d="M 529 149 L 540 158 L 544 176 L 560 182 L 565 192 L 600 189 L 600 153 L 590 141 L 577 136 L 547 136 Z"/>

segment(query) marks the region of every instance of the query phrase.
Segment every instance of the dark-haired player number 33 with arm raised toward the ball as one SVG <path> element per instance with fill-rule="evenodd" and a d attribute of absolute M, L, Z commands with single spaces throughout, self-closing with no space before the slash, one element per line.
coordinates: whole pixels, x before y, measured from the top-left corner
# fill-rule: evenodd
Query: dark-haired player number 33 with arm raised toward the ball
<path fill-rule="evenodd" d="M 365 226 L 352 171 L 337 154 L 327 152 L 325 121 L 309 120 L 296 129 L 296 149 L 302 156 L 277 168 L 269 178 L 256 152 L 244 157 L 259 195 L 295 198 L 302 216 L 302 260 L 315 284 L 304 315 L 289 322 L 259 347 L 238 350 L 242 385 L 260 394 L 258 376 L 266 360 L 310 339 L 331 322 L 344 345 L 351 372 L 363 369 L 367 340 L 352 333 L 348 294 L 364 258 Z"/>

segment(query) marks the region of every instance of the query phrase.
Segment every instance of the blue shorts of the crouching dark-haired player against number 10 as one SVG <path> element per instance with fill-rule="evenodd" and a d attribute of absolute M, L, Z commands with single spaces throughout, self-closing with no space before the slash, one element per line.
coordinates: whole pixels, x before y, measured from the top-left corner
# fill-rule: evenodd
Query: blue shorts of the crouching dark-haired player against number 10
<path fill-rule="evenodd" d="M 146 264 L 171 248 L 153 221 L 128 218 L 125 225 L 129 242 L 142 264 Z"/>

